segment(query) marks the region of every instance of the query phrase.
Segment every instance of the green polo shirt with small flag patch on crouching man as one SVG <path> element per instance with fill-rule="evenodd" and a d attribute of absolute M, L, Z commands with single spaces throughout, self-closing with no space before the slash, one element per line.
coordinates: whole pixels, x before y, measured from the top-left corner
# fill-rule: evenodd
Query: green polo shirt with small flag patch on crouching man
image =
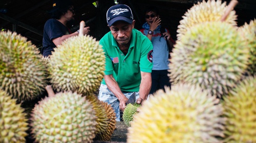
<path fill-rule="evenodd" d="M 99 41 L 105 52 L 105 75 L 113 74 L 121 91 L 138 92 L 140 72 L 150 72 L 153 68 L 153 45 L 140 31 L 133 29 L 131 44 L 126 55 L 119 49 L 111 32 Z M 102 84 L 106 84 L 103 79 Z"/>

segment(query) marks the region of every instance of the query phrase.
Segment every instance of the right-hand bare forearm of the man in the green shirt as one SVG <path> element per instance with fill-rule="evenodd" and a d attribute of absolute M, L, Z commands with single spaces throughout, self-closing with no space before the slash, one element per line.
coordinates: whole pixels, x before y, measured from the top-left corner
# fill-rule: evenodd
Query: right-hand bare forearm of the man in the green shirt
<path fill-rule="evenodd" d="M 140 72 L 141 73 L 141 82 L 140 82 L 140 90 L 139 90 L 139 99 L 137 99 L 136 103 L 141 104 L 150 94 L 152 80 L 150 72 Z"/>

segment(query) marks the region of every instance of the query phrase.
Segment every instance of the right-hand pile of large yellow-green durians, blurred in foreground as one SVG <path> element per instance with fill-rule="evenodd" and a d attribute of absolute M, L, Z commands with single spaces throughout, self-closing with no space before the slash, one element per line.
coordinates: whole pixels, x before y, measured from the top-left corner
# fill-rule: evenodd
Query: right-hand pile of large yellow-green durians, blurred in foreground
<path fill-rule="evenodd" d="M 256 20 L 238 27 L 236 4 L 203 1 L 184 14 L 171 88 L 143 102 L 127 142 L 256 142 Z"/>

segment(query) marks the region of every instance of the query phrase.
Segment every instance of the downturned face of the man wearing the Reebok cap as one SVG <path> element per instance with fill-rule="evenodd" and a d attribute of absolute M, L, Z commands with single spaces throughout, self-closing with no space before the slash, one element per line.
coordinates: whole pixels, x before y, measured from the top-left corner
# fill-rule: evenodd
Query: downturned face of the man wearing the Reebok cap
<path fill-rule="evenodd" d="M 133 23 L 127 23 L 124 21 L 117 21 L 110 26 L 110 31 L 116 39 L 118 45 L 130 44 L 132 37 L 132 30 L 134 28 L 135 20 Z"/>

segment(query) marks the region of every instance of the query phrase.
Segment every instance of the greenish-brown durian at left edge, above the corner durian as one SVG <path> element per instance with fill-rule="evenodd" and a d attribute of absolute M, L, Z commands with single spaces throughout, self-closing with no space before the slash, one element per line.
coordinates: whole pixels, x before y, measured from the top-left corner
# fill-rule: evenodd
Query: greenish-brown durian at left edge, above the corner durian
<path fill-rule="evenodd" d="M 46 86 L 46 65 L 36 46 L 17 33 L 0 33 L 0 88 L 18 101 L 38 97 Z"/>

